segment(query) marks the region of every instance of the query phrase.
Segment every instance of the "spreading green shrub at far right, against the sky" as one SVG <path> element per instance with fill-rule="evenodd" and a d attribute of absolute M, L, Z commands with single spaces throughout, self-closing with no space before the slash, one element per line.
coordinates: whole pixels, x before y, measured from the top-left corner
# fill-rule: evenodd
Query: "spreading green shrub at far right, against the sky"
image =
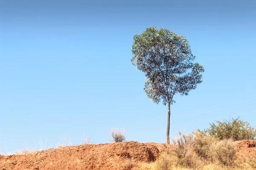
<path fill-rule="evenodd" d="M 256 129 L 251 127 L 248 122 L 239 120 L 239 117 L 237 119 L 216 122 L 218 125 L 210 124 L 211 127 L 204 130 L 204 133 L 209 136 L 216 136 L 220 140 L 232 139 L 237 141 L 244 139 L 253 140 L 256 138 Z"/>

